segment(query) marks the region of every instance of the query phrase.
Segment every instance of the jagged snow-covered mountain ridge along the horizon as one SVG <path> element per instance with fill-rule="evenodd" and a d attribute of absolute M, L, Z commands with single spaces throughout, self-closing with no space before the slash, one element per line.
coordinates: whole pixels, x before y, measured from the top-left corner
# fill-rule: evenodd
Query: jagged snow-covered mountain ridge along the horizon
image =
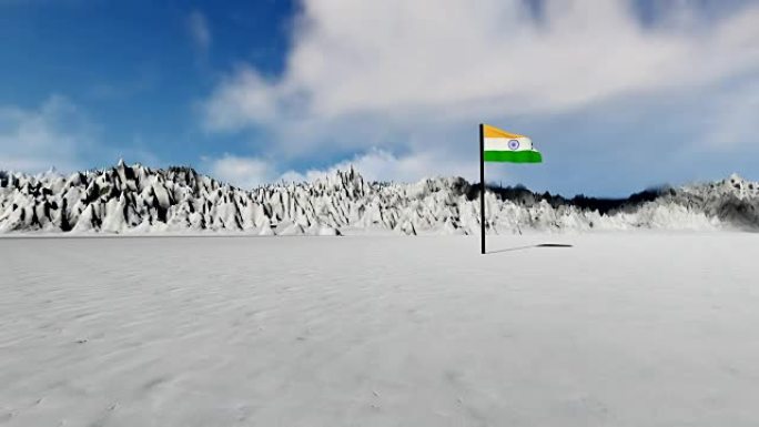
<path fill-rule="evenodd" d="M 462 177 L 413 184 L 365 181 L 350 169 L 310 183 L 242 190 L 190 167 L 140 164 L 73 173 L 0 172 L 0 233 L 245 232 L 336 235 L 479 232 L 478 189 Z M 488 233 L 591 230 L 759 231 L 759 183 L 649 190 L 627 199 L 565 199 L 524 187 L 488 187 Z"/>

